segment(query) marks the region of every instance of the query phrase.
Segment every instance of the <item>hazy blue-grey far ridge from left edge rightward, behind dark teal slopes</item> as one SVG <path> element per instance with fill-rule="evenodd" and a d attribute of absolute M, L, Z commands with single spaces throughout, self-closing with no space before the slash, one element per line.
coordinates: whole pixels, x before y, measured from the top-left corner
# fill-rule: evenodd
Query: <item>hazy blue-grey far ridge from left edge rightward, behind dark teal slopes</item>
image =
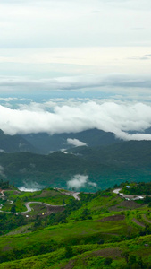
<path fill-rule="evenodd" d="M 151 128 L 148 128 L 145 133 L 150 134 Z M 0 130 L 0 152 L 33 152 L 38 154 L 49 154 L 51 152 L 61 151 L 62 149 L 70 151 L 71 148 L 74 148 L 76 152 L 76 147 L 74 147 L 73 144 L 68 143 L 67 140 L 69 138 L 71 140 L 77 139 L 82 143 L 87 143 L 90 148 L 106 148 L 107 146 L 117 143 L 119 143 L 120 147 L 122 143 L 125 143 L 125 141 L 116 138 L 112 132 L 105 132 L 98 129 L 90 129 L 79 133 L 52 135 L 46 133 L 9 135 L 4 134 L 4 132 Z M 135 143 L 135 141 L 133 142 Z"/>

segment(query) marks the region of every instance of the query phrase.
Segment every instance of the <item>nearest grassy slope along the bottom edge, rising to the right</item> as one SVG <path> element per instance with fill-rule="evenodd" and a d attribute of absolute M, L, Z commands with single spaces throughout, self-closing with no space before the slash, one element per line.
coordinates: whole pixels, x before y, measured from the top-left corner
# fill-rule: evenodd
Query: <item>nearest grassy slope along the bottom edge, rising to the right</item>
<path fill-rule="evenodd" d="M 0 268 L 124 268 L 125 259 L 122 253 L 125 249 L 131 255 L 136 256 L 137 259 L 138 256 L 142 256 L 142 261 L 151 262 L 150 241 L 151 236 L 145 236 L 102 246 L 97 244 L 75 246 L 72 247 L 72 257 L 70 259 L 65 257 L 65 248 L 63 247 L 46 255 L 4 263 L 0 265 Z M 145 247 L 145 245 L 148 245 L 148 247 Z M 105 265 L 106 257 L 113 259 L 111 266 Z"/>

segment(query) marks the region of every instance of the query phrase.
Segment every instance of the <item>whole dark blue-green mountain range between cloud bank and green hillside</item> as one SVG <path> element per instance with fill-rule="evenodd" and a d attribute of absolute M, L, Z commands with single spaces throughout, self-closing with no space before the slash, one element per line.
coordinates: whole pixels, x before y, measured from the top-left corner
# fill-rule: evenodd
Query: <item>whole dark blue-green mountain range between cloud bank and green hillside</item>
<path fill-rule="evenodd" d="M 69 138 L 86 145 L 74 146 Z M 147 182 L 151 176 L 151 141 L 124 142 L 96 129 L 13 136 L 1 131 L 0 148 L 1 178 L 17 187 L 69 187 L 70 182 L 70 187 L 94 192 L 126 180 Z"/>

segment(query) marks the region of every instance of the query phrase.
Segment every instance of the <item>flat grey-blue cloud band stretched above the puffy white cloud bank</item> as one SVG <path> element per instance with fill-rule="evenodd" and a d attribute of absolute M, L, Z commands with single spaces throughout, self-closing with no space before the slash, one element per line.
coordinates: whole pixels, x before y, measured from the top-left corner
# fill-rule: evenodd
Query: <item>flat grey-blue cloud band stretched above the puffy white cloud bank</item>
<path fill-rule="evenodd" d="M 0 91 L 105 91 L 108 93 L 150 94 L 150 75 L 102 74 L 56 77 L 52 79 L 28 79 L 0 77 Z M 131 92 L 132 90 L 132 92 Z M 11 99 L 1 99 L 8 100 Z M 12 99 L 15 101 L 15 99 Z M 19 100 L 19 99 L 18 99 Z M 17 99 L 16 99 L 17 101 Z M 22 99 L 23 101 L 23 99 Z M 34 104 L 34 102 L 33 102 Z M 32 104 L 32 106 L 33 106 Z M 35 105 L 37 105 L 35 103 Z M 49 106 L 49 103 L 47 103 Z"/>

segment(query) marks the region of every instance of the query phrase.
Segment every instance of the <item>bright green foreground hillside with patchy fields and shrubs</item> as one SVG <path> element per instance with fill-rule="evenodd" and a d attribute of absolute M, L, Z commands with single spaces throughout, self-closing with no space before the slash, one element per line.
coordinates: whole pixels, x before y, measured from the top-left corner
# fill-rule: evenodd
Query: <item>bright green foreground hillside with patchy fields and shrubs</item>
<path fill-rule="evenodd" d="M 122 184 L 122 189 L 126 185 Z M 65 190 L 44 189 L 30 195 L 17 192 L 10 189 L 5 195 L 10 200 L 20 197 L 22 204 L 65 201 L 66 205 L 58 213 L 44 214 L 40 207 L 33 207 L 29 218 L 27 213 L 0 213 L 3 225 L 4 218 L 7 220 L 0 237 L 0 268 L 151 267 L 150 204 L 140 204 L 132 197 L 127 201 L 113 189 L 81 193 L 80 201 Z M 18 227 L 9 228 L 9 220 L 20 220 Z"/>

